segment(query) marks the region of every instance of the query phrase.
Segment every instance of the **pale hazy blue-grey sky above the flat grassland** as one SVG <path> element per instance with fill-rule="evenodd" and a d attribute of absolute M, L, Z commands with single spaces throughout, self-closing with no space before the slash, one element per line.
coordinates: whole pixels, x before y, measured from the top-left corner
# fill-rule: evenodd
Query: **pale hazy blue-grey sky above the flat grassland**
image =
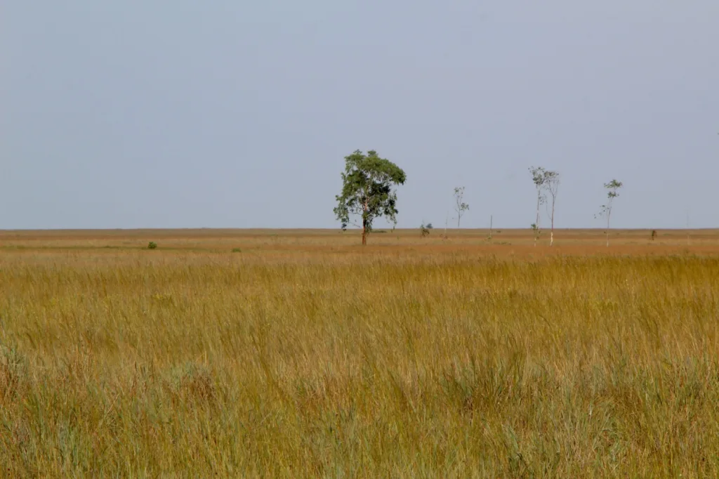
<path fill-rule="evenodd" d="M 338 227 L 344 156 L 398 227 L 719 227 L 717 0 L 8 0 L 0 228 Z M 547 224 L 546 219 L 543 220 Z M 383 222 L 377 226 L 383 225 Z"/>

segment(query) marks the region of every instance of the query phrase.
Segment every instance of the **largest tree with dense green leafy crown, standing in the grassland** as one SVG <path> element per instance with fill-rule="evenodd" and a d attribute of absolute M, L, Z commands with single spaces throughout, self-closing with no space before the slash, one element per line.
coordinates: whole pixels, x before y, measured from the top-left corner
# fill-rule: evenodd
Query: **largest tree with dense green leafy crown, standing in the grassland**
<path fill-rule="evenodd" d="M 397 224 L 397 193 L 393 186 L 403 185 L 405 172 L 390 160 L 380 158 L 375 150 L 367 155 L 356 150 L 344 157 L 342 193 L 337 195 L 334 214 L 347 229 L 350 216 L 359 216 L 362 228 L 362 245 L 367 245 L 367 234 L 372 232 L 372 222 L 385 216 L 393 225 Z"/>

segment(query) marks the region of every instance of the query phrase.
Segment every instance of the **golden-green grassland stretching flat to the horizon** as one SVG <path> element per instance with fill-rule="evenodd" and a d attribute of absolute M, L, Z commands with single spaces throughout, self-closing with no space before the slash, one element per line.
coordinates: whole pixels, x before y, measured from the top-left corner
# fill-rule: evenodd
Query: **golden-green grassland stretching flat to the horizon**
<path fill-rule="evenodd" d="M 441 235 L 0 232 L 1 476 L 719 477 L 719 231 Z"/>

